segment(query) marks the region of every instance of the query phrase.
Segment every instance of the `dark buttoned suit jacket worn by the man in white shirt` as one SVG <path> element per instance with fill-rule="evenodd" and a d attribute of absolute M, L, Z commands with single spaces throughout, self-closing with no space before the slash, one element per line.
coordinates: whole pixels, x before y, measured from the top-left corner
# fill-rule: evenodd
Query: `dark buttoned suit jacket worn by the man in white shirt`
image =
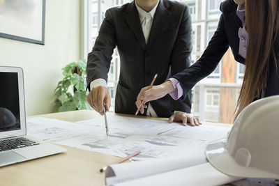
<path fill-rule="evenodd" d="M 160 0 L 146 45 L 135 2 L 110 8 L 88 56 L 88 86 L 94 79 L 107 80 L 113 49 L 117 46 L 121 69 L 115 111 L 135 114 L 138 93 L 142 87 L 149 86 L 156 73 L 154 85 L 162 84 L 190 65 L 191 31 L 188 6 Z M 174 110 L 190 112 L 190 94 L 183 102 L 166 95 L 151 105 L 160 117 L 169 117 Z"/>

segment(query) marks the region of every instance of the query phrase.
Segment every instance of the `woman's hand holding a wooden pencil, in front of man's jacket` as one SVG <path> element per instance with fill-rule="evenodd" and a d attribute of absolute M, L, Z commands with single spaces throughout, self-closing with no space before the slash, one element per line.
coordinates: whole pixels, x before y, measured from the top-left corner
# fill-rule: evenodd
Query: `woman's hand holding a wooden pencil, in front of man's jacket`
<path fill-rule="evenodd" d="M 175 89 L 170 81 L 157 86 L 152 86 L 152 88 L 149 88 L 149 86 L 142 88 L 139 95 L 137 95 L 137 101 L 135 102 L 137 109 L 140 109 L 140 113 L 144 114 L 144 108 L 147 108 L 146 102 L 163 98 L 167 93 L 172 91 L 175 91 Z"/>

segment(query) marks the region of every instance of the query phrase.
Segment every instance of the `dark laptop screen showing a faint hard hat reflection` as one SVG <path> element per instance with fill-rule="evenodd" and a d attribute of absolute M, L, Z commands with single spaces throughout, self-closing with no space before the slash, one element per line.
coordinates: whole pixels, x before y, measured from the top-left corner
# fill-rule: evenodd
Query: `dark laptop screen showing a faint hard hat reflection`
<path fill-rule="evenodd" d="M 0 72 L 0 132 L 20 130 L 17 72 Z"/>

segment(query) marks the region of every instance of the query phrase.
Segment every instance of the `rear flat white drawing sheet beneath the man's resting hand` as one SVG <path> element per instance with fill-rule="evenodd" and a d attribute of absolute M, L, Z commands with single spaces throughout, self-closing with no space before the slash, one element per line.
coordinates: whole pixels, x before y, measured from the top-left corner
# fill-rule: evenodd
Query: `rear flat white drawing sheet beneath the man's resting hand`
<path fill-rule="evenodd" d="M 206 124 L 196 127 L 183 126 L 179 123 L 168 123 L 144 118 L 133 118 L 123 116 L 111 116 L 107 118 L 110 133 L 128 136 L 130 134 L 154 135 L 160 134 L 184 139 L 195 139 L 202 141 L 213 141 L 224 139 L 231 130 L 232 125 L 227 127 L 208 126 Z M 88 121 L 80 121 L 84 125 L 104 126 L 104 118 L 96 118 Z"/>

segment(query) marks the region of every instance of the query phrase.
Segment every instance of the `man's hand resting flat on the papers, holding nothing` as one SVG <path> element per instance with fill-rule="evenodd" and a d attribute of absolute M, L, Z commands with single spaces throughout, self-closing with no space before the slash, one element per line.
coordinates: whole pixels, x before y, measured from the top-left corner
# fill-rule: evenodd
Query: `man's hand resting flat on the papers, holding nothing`
<path fill-rule="evenodd" d="M 177 111 L 174 115 L 169 117 L 169 123 L 172 122 L 182 122 L 182 125 L 190 125 L 190 126 L 199 126 L 202 123 L 199 121 L 199 118 L 195 118 L 192 114 L 188 114 L 186 112 Z"/>

